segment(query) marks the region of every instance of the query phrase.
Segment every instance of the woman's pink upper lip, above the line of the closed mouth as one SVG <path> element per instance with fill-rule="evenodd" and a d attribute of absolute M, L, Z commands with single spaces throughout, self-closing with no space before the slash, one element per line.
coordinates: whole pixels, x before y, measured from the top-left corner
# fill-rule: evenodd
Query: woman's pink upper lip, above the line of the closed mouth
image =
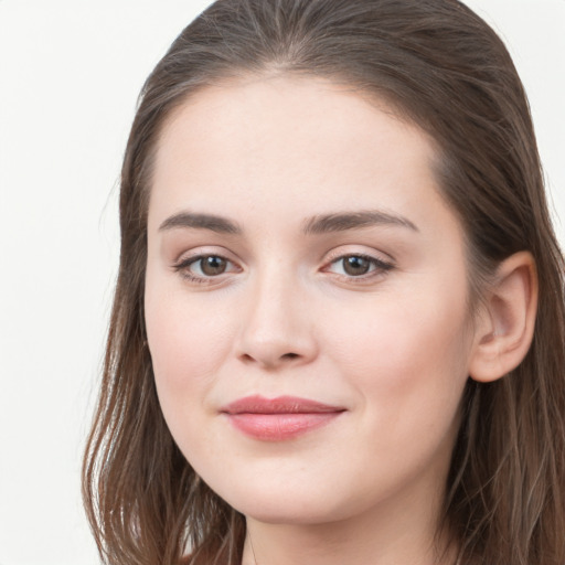
<path fill-rule="evenodd" d="M 322 414 L 344 412 L 344 409 L 342 406 L 332 406 L 298 396 L 265 398 L 264 396 L 253 395 L 227 404 L 221 412 L 226 414 Z"/>

